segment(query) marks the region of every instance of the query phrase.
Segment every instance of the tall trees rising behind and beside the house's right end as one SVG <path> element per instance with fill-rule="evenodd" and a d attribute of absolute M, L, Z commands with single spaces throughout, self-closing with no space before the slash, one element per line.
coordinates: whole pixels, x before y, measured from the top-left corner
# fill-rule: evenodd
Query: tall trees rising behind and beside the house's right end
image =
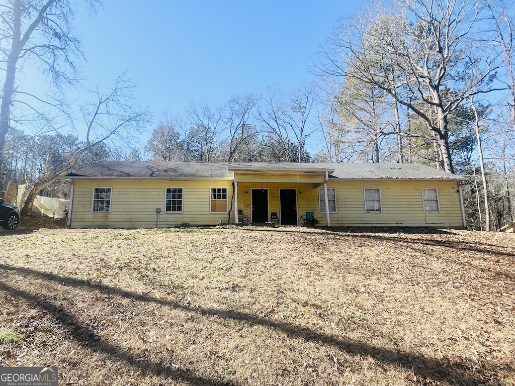
<path fill-rule="evenodd" d="M 504 0 L 398 0 L 343 20 L 318 62 L 335 83 L 328 153 L 464 174 L 469 223 L 512 222 L 514 10 Z"/>

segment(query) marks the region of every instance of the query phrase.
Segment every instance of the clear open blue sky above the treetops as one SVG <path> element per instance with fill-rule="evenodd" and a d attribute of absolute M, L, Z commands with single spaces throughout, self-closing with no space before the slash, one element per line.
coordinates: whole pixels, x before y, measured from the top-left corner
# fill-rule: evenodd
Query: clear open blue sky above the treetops
<path fill-rule="evenodd" d="M 319 1 L 106 0 L 76 14 L 90 86 L 109 87 L 127 71 L 135 97 L 156 120 L 184 114 L 192 101 L 285 92 L 310 81 L 316 55 L 340 16 L 359 6 Z M 151 131 L 153 128 L 149 128 Z"/>

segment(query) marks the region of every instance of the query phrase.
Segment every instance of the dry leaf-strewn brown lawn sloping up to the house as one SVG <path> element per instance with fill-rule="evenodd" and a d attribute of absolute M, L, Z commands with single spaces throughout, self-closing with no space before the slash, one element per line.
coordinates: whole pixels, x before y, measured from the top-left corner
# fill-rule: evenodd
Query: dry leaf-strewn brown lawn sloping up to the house
<path fill-rule="evenodd" d="M 515 385 L 515 235 L 0 234 L 2 366 L 60 385 Z"/>

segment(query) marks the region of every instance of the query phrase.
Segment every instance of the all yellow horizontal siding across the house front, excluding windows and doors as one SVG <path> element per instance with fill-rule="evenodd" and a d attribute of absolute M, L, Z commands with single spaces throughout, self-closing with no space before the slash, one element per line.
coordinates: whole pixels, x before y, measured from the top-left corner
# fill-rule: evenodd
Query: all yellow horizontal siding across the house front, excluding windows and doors
<path fill-rule="evenodd" d="M 314 212 L 320 225 L 326 224 L 325 213 L 320 213 L 319 209 L 318 188 L 313 188 L 313 181 L 298 181 L 299 178 L 313 176 L 272 176 L 283 182 L 266 182 L 266 175 L 263 175 L 263 182 L 242 182 L 240 177 L 238 173 L 238 207 L 233 207 L 230 222 L 234 222 L 236 209 L 241 209 L 251 221 L 252 188 L 264 188 L 268 189 L 268 218 L 271 212 L 277 212 L 281 217 L 280 189 L 296 189 L 297 218 L 305 212 Z M 253 177 L 259 178 L 259 174 L 253 174 Z M 322 181 L 317 178 L 315 182 Z M 94 187 L 112 188 L 111 213 L 91 212 Z M 167 187 L 183 188 L 182 213 L 165 213 Z M 210 213 L 210 189 L 214 187 L 227 188 L 228 209 L 231 208 L 231 180 L 76 180 L 71 226 L 155 227 L 156 208 L 161 208 L 159 227 L 170 227 L 181 222 L 192 225 L 214 225 L 220 220 L 227 222 L 227 213 Z M 328 188 L 336 190 L 337 213 L 330 214 L 332 226 L 462 226 L 459 184 L 456 181 L 331 180 Z M 364 188 L 381 189 L 382 213 L 365 212 Z M 424 213 L 422 188 L 438 189 L 439 213 Z"/>

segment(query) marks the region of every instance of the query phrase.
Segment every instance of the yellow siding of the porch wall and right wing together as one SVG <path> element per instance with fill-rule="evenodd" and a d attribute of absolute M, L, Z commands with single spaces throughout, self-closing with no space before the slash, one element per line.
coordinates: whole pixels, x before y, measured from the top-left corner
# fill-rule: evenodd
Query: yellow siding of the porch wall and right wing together
<path fill-rule="evenodd" d="M 238 182 L 238 209 L 251 221 L 251 189 L 268 189 L 269 214 L 280 216 L 279 190 L 297 189 L 298 217 L 314 212 L 320 225 L 326 225 L 325 213 L 320 213 L 318 188 L 311 183 L 290 182 L 283 175 L 282 183 Z M 237 175 L 239 181 L 239 174 Z M 323 186 L 322 186 L 323 187 Z M 331 213 L 332 226 L 462 226 L 459 184 L 456 181 L 329 181 L 336 189 L 337 213 Z M 382 213 L 366 213 L 364 188 L 381 189 Z M 437 188 L 439 213 L 424 213 L 422 188 Z M 246 193 L 247 192 L 247 193 Z M 302 193 L 301 193 L 302 192 Z"/>

